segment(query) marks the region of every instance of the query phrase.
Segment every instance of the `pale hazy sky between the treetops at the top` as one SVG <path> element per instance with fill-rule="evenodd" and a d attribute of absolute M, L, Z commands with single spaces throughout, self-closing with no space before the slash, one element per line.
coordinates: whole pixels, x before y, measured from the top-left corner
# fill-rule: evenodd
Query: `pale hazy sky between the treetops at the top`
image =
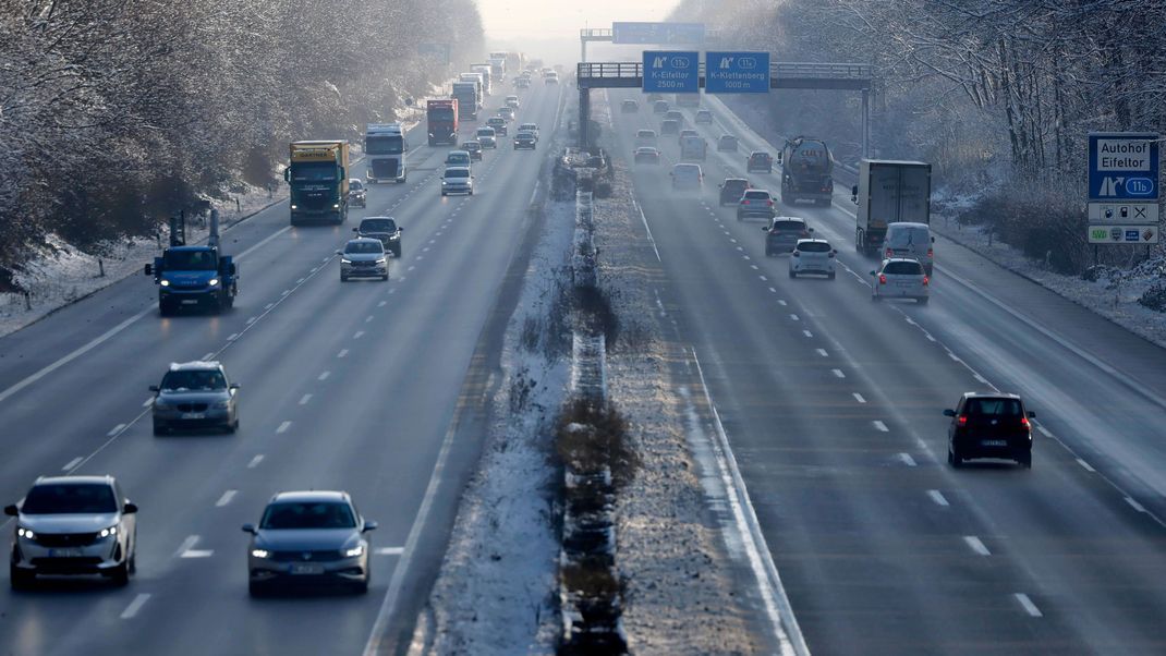
<path fill-rule="evenodd" d="M 478 0 L 486 38 L 578 37 L 612 21 L 662 21 L 677 0 Z"/>

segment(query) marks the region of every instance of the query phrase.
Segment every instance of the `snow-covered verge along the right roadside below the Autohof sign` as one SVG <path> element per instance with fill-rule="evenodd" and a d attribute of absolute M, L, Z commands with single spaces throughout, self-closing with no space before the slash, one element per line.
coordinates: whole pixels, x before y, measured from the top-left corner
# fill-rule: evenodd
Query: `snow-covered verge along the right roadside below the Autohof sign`
<path fill-rule="evenodd" d="M 1109 269 L 1108 275 L 1093 282 L 1049 270 L 1042 261 L 999 239 L 990 239 L 986 226 L 960 227 L 955 220 L 939 216 L 932 218 L 932 230 L 1166 348 L 1166 312 L 1138 304 L 1146 289 L 1166 283 L 1166 256 L 1158 255 L 1131 270 Z"/>

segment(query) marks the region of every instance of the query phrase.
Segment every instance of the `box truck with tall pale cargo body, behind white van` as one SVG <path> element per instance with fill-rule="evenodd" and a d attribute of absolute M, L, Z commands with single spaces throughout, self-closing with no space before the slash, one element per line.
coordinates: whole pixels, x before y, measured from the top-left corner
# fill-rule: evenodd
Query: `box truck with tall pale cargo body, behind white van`
<path fill-rule="evenodd" d="M 865 255 L 879 253 L 886 226 L 894 223 L 932 223 L 932 165 L 923 162 L 863 160 L 858 184 L 851 189 L 855 212 L 855 248 Z"/>

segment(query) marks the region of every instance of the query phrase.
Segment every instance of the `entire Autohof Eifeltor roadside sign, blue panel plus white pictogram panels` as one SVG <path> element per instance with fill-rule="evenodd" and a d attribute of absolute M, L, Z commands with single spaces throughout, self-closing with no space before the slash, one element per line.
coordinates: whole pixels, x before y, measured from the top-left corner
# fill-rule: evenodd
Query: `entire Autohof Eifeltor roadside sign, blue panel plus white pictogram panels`
<path fill-rule="evenodd" d="M 1159 136 L 1089 134 L 1089 242 L 1158 244 Z"/>

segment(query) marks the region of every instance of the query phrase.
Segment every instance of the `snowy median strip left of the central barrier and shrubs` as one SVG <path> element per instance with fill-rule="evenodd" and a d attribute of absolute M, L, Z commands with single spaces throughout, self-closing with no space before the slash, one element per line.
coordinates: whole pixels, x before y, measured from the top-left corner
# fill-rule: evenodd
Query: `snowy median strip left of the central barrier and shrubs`
<path fill-rule="evenodd" d="M 462 496 L 427 616 L 419 622 L 415 644 L 428 632 L 430 654 L 553 654 L 559 640 L 550 456 L 570 358 L 569 350 L 556 352 L 548 334 L 567 284 L 575 203 L 548 202 L 546 211 L 506 330 L 506 378 L 493 400 L 490 435 Z"/>

